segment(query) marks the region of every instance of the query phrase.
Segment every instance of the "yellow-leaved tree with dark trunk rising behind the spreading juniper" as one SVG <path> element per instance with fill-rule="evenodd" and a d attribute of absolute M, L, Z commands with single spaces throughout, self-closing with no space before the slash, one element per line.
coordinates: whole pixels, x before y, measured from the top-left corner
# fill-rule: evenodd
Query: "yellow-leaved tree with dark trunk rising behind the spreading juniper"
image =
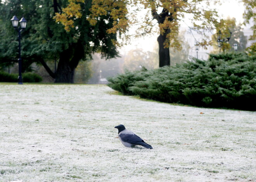
<path fill-rule="evenodd" d="M 189 29 L 196 31 L 202 35 L 201 42 L 197 42 L 199 46 L 207 46 L 208 36 L 205 31 L 213 31 L 214 24 L 217 21 L 217 11 L 211 9 L 211 5 L 218 3 L 218 0 L 140 0 L 151 17 L 145 18 L 145 22 L 152 27 L 156 20 L 159 27 L 159 36 L 157 41 L 159 44 L 159 67 L 170 65 L 169 47 L 175 50 L 181 50 L 181 41 L 178 39 L 179 28 L 182 22 L 186 23 L 186 19 L 192 22 Z M 190 18 L 189 18 L 190 17 Z M 143 30 L 145 25 L 141 27 Z M 151 32 L 152 28 L 145 31 Z"/>

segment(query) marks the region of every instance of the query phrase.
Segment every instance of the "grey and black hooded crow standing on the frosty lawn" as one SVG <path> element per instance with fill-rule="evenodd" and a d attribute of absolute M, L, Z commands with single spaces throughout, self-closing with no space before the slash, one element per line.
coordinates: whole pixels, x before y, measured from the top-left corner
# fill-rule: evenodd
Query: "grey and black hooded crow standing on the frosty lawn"
<path fill-rule="evenodd" d="M 115 126 L 115 128 L 118 129 L 118 138 L 120 139 L 121 143 L 123 143 L 124 146 L 132 147 L 135 145 L 141 145 L 141 146 L 144 146 L 145 148 L 152 149 L 152 146 L 145 143 L 143 139 L 138 137 L 132 131 L 125 129 L 125 126 L 123 126 L 123 124 Z"/>

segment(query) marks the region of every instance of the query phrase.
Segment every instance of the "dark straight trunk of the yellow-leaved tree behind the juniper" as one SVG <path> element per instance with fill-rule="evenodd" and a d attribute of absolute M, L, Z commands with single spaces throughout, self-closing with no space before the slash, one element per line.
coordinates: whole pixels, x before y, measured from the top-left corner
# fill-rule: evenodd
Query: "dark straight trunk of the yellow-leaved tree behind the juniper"
<path fill-rule="evenodd" d="M 164 35 L 160 34 L 157 37 L 157 42 L 159 45 L 159 67 L 170 66 L 170 50 L 169 47 L 164 48 L 164 41 L 166 40 L 167 32 Z"/>

